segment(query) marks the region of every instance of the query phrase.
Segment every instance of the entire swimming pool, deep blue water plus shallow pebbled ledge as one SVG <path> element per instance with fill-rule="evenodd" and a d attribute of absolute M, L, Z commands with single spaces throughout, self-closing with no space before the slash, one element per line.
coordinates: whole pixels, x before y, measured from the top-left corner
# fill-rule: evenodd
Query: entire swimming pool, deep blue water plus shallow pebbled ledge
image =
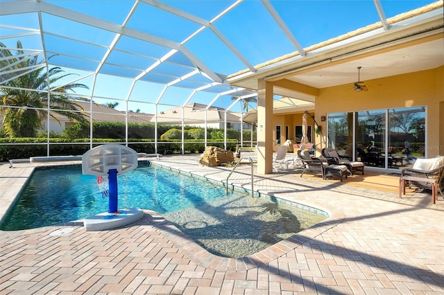
<path fill-rule="evenodd" d="M 119 175 L 118 184 L 119 208 L 156 211 L 205 249 L 225 257 L 256 253 L 326 218 L 268 196 L 239 191 L 226 195 L 220 184 L 147 161 Z M 40 168 L 0 229 L 32 229 L 106 211 L 108 199 L 101 195 L 96 177 L 82 175 L 81 166 Z"/>

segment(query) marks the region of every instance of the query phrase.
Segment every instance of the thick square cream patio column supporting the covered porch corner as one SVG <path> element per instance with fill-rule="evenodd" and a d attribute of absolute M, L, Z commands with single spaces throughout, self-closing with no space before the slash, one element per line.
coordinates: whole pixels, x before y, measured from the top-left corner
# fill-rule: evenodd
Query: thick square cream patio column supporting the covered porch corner
<path fill-rule="evenodd" d="M 273 84 L 257 82 L 257 173 L 273 172 Z"/>

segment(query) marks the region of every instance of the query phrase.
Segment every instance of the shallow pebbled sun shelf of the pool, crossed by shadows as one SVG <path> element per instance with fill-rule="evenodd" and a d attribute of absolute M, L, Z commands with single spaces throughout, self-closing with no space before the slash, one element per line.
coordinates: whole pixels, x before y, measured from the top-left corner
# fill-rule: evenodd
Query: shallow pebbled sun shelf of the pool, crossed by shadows
<path fill-rule="evenodd" d="M 267 197 L 235 196 L 164 217 L 207 251 L 234 258 L 262 251 L 326 218 Z"/>

